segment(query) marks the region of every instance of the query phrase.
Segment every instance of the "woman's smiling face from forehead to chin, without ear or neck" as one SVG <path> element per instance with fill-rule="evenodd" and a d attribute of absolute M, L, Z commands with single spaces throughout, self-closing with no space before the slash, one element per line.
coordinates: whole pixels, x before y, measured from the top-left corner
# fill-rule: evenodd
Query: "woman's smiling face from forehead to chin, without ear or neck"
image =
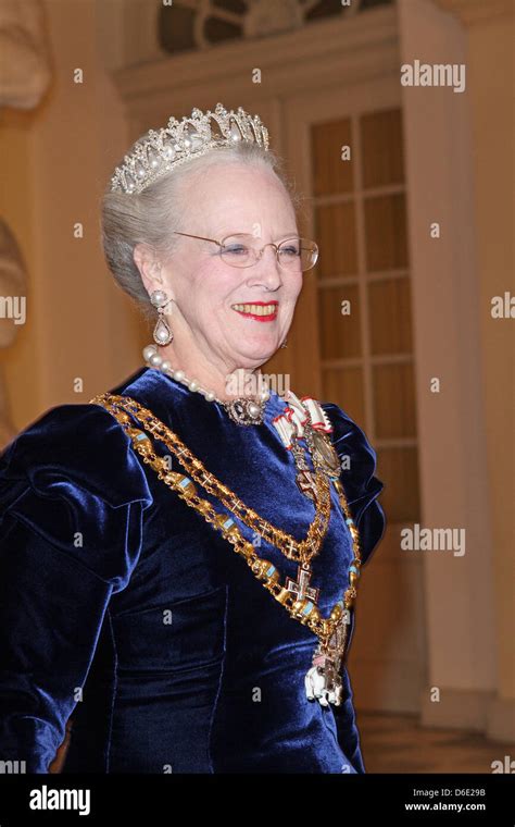
<path fill-rule="evenodd" d="M 217 240 L 248 233 L 258 247 L 298 234 L 288 193 L 264 170 L 217 164 L 185 183 L 183 202 L 185 233 Z M 288 333 L 302 273 L 281 268 L 273 247 L 266 247 L 254 266 L 236 268 L 221 258 L 216 244 L 177 238 L 176 252 L 161 271 L 162 288 L 175 301 L 167 314 L 176 347 L 190 354 L 197 348 L 226 372 L 265 362 Z M 259 321 L 235 308 L 256 303 L 273 303 L 275 316 Z"/>

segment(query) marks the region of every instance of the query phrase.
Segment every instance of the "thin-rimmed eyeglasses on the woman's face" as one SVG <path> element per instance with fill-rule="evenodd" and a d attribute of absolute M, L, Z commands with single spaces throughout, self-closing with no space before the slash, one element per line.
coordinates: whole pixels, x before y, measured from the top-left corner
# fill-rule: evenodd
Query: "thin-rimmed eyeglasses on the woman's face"
<path fill-rule="evenodd" d="M 263 247 L 258 247 L 255 237 L 247 233 L 227 235 L 219 242 L 215 238 L 205 238 L 203 235 L 191 235 L 178 231 L 175 231 L 175 234 L 217 244 L 223 261 L 231 267 L 252 267 L 261 259 L 265 247 L 274 247 L 277 261 L 285 270 L 304 272 L 311 270 L 318 259 L 318 247 L 315 242 L 311 242 L 309 238 L 299 238 L 299 236 L 285 238 L 279 244 L 268 242 Z"/>

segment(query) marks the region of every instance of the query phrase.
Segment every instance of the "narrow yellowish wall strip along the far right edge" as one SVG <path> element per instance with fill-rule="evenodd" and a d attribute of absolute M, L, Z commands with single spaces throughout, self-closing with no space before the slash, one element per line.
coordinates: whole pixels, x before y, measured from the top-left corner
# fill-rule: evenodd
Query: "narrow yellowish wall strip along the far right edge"
<path fill-rule="evenodd" d="M 498 703 L 490 728 L 515 737 L 515 319 L 492 319 L 492 296 L 515 296 L 514 44 L 512 16 L 467 27 L 473 113 L 481 350 L 494 555 Z"/>

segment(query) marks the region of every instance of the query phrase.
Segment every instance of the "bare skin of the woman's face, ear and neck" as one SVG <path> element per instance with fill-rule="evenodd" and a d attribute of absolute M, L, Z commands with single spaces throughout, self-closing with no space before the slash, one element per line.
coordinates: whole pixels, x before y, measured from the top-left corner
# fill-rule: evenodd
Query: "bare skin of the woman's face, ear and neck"
<path fill-rule="evenodd" d="M 185 164 L 184 206 L 177 213 L 181 229 L 172 231 L 178 236 L 172 251 L 145 243 L 134 250 L 135 277 L 146 295 L 160 291 L 167 298 L 166 328 L 174 335 L 161 340 L 160 355 L 219 398 L 235 369 L 254 371 L 280 346 L 302 286 L 304 258 L 285 259 L 282 247 L 269 246 L 296 226 L 296 214 L 284 183 L 263 157 L 266 150 L 243 144 L 199 159 L 200 170 L 189 174 Z M 244 232 L 247 245 L 230 236 L 227 244 L 227 226 Z M 277 310 L 267 325 L 255 323 L 258 313 L 234 310 L 234 305 L 263 306 L 271 299 Z"/>

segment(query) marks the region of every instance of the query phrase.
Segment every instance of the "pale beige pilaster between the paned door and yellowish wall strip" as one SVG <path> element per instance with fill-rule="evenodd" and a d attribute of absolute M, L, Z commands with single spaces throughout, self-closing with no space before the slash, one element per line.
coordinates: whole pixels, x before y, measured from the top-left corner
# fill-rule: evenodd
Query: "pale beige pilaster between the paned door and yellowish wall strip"
<path fill-rule="evenodd" d="M 403 63 L 466 65 L 466 34 L 452 15 L 428 0 L 401 0 L 399 10 Z M 470 698 L 485 706 L 495 687 L 482 395 L 469 369 L 480 358 L 469 99 L 450 87 L 411 86 L 403 100 L 422 522 L 465 532 L 463 556 L 422 555 L 428 640 L 422 700 L 427 723 L 465 725 L 455 699 L 462 709 Z M 434 222 L 439 238 L 431 237 Z M 431 392 L 432 378 L 439 393 Z"/>

